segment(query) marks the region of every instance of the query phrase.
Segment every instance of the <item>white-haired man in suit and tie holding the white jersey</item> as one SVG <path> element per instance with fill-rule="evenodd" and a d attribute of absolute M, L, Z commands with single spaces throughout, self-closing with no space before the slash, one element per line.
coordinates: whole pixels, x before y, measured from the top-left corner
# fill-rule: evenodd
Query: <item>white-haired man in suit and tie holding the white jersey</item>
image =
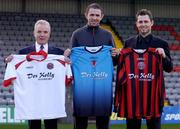
<path fill-rule="evenodd" d="M 51 26 L 46 20 L 38 20 L 34 25 L 35 44 L 19 50 L 19 54 L 29 54 L 43 50 L 49 54 L 63 55 L 64 51 L 48 44 Z M 8 56 L 5 61 L 10 62 L 13 56 Z M 67 61 L 67 59 L 65 59 Z M 33 106 L 33 105 L 32 105 Z M 30 113 L 30 112 L 29 112 Z M 41 129 L 41 120 L 28 120 L 29 129 Z M 45 129 L 57 129 L 57 118 L 45 119 Z"/>

